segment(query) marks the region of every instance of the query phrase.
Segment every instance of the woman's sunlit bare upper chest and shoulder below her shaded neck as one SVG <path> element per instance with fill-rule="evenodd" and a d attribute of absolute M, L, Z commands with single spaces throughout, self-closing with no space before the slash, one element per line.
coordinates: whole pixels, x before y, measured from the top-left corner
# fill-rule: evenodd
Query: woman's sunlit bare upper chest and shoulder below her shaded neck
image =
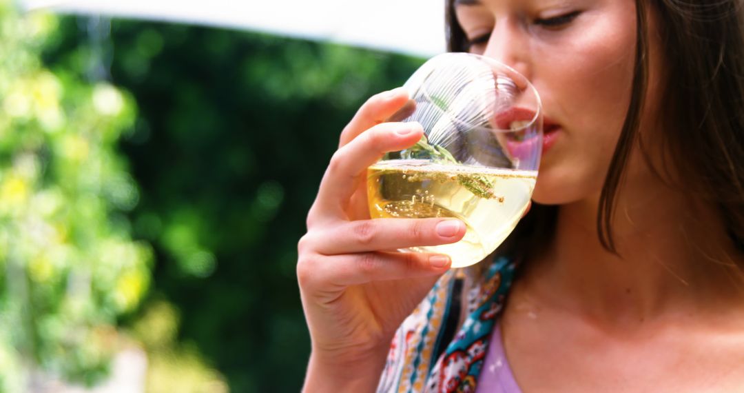
<path fill-rule="evenodd" d="M 608 325 L 517 285 L 504 347 L 525 392 L 741 392 L 744 302 Z"/>

